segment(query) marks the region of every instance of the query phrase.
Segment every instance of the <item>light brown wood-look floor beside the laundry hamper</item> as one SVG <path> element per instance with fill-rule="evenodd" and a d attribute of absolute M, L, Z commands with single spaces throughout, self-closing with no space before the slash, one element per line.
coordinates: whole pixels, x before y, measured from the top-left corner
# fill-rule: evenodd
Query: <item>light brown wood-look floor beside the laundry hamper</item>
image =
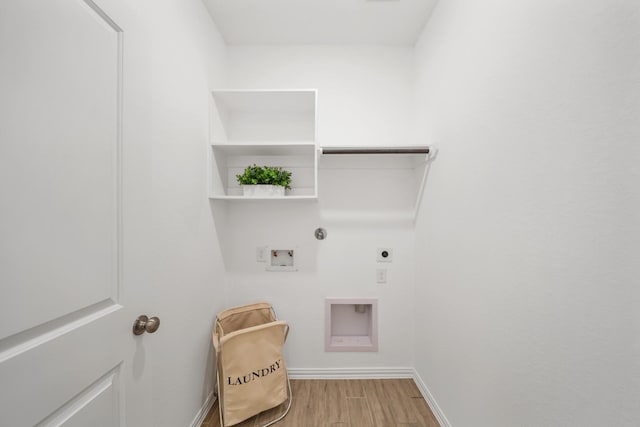
<path fill-rule="evenodd" d="M 274 427 L 440 427 L 411 379 L 291 380 L 293 403 Z M 278 417 L 280 406 L 238 427 L 259 427 Z M 220 427 L 214 404 L 201 427 Z"/>

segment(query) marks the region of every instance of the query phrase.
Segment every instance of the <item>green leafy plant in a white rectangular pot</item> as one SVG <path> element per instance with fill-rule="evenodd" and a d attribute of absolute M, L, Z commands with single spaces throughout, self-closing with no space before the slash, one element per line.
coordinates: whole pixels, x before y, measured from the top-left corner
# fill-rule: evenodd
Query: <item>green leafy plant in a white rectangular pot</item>
<path fill-rule="evenodd" d="M 291 172 L 273 166 L 247 166 L 244 172 L 236 175 L 242 186 L 242 194 L 247 197 L 284 196 L 284 190 L 290 190 Z"/>

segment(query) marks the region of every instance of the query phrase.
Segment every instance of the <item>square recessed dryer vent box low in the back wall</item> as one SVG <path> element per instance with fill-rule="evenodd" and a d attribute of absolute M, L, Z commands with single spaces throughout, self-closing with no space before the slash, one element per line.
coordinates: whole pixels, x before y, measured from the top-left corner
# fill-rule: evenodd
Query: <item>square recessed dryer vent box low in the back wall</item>
<path fill-rule="evenodd" d="M 325 351 L 378 351 L 378 300 L 325 300 Z"/>

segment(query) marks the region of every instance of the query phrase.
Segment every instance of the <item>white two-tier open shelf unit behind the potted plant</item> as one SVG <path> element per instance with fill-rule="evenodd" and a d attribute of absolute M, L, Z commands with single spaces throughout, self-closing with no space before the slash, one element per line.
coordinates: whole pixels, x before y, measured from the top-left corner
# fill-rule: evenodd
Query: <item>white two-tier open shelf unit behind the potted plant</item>
<path fill-rule="evenodd" d="M 245 167 L 292 172 L 291 190 L 274 199 L 317 199 L 315 90 L 215 90 L 211 102 L 209 197 L 242 196 L 236 175 Z"/>

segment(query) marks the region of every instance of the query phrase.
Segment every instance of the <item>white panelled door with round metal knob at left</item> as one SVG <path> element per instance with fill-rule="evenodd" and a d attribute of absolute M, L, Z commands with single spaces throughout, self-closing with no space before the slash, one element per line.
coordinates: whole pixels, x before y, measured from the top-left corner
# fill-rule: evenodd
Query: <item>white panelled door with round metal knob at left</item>
<path fill-rule="evenodd" d="M 149 46 L 127 3 L 0 1 L 2 427 L 149 425 Z"/>

